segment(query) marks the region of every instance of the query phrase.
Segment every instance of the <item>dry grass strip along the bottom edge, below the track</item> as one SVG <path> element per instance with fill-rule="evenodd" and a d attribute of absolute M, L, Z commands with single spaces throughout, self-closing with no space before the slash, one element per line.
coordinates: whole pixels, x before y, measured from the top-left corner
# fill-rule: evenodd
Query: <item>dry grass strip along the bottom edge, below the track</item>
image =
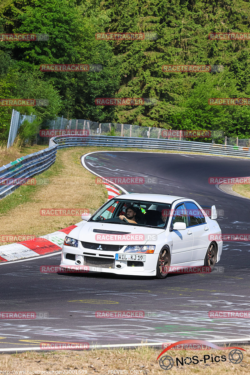
<path fill-rule="evenodd" d="M 229 346 L 229 345 L 228 345 Z M 233 345 L 231 345 L 233 346 Z M 236 345 L 238 346 L 238 345 Z M 168 351 L 166 354 L 174 359 L 174 366 L 169 370 L 169 374 L 201 374 L 201 375 L 227 375 L 250 373 L 250 350 L 249 347 L 241 346 L 247 351 L 243 352 L 243 361 L 239 364 L 233 364 L 228 360 L 229 350 L 209 350 L 209 351 Z M 162 375 L 164 370 L 160 368 L 157 357 L 162 350 L 149 347 L 139 349 L 115 349 L 115 350 L 90 350 L 90 351 L 51 351 L 51 352 L 25 352 L 18 354 L 2 354 L 0 355 L 0 369 L 6 371 L 53 371 L 66 370 L 64 374 L 71 371 L 77 371 L 77 374 L 117 374 L 111 373 L 115 370 L 127 370 L 127 374 L 143 374 L 143 375 Z M 225 362 L 211 362 L 211 359 L 197 365 L 176 366 L 175 357 L 198 356 L 202 359 L 204 355 L 222 356 L 226 355 Z M 165 354 L 164 354 L 165 355 Z M 51 374 L 53 374 L 51 372 Z M 72 373 L 72 372 L 71 372 Z M 33 373 L 34 374 L 34 373 Z M 124 372 L 122 372 L 124 374 Z"/>

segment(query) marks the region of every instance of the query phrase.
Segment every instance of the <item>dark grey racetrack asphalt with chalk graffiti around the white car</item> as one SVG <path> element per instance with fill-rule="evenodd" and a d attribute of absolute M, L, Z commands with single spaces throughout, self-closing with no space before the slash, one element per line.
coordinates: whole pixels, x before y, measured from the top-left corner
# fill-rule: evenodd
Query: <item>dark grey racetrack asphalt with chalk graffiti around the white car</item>
<path fill-rule="evenodd" d="M 91 153 L 84 162 L 103 177 L 149 177 L 157 183 L 121 185 L 128 192 L 170 194 L 224 210 L 222 233 L 250 233 L 249 200 L 228 195 L 209 177 L 245 177 L 250 160 L 192 154 Z M 82 192 L 81 192 L 82 193 Z M 84 198 L 83 198 L 84 199 Z M 249 242 L 224 242 L 217 272 L 169 274 L 166 279 L 105 273 L 40 273 L 60 255 L 1 264 L 1 311 L 34 311 L 31 320 L 0 320 L 0 348 L 41 342 L 131 344 L 182 339 L 243 342 L 250 319 L 208 317 L 208 311 L 250 310 Z M 142 318 L 96 318 L 96 311 L 144 311 Z M 40 318 L 39 318 L 40 317 Z M 0 350 L 1 351 L 1 350 Z"/>

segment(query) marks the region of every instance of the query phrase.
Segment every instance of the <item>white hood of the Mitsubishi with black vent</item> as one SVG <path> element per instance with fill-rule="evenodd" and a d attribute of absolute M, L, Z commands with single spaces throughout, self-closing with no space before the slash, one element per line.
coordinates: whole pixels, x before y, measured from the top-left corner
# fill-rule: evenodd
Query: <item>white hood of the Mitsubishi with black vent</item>
<path fill-rule="evenodd" d="M 79 241 L 93 242 L 93 243 L 113 243 L 114 245 L 133 245 L 134 243 L 145 244 L 148 240 L 153 239 L 153 237 L 164 232 L 165 229 L 159 228 L 149 228 L 142 226 L 133 226 L 126 224 L 112 224 L 103 222 L 83 222 L 74 228 L 68 237 L 72 237 Z M 135 239 L 126 240 L 126 234 L 137 235 Z M 112 237 L 109 237 L 113 235 Z M 125 235 L 118 237 L 118 235 Z M 121 240 L 122 239 L 122 240 Z M 138 240 L 141 239 L 141 240 Z"/>

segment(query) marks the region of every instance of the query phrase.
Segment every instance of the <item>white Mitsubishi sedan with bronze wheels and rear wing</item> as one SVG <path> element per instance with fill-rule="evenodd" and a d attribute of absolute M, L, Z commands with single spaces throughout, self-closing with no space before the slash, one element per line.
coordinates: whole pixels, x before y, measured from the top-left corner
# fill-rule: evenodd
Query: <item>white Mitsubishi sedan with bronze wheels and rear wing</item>
<path fill-rule="evenodd" d="M 223 245 L 216 218 L 215 206 L 210 219 L 189 198 L 119 195 L 92 216 L 82 215 L 82 224 L 64 240 L 60 266 L 159 279 L 166 278 L 170 266 L 213 270 Z"/>

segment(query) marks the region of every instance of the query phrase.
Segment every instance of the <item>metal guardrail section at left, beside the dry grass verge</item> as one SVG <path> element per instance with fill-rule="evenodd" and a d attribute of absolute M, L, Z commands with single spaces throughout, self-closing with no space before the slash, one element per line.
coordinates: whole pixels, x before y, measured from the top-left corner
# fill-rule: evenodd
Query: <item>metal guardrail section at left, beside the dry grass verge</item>
<path fill-rule="evenodd" d="M 7 165 L 0 167 L 0 199 L 10 194 L 20 184 L 11 183 L 16 179 L 28 179 L 48 169 L 54 162 L 57 145 L 45 148 L 33 154 L 22 156 Z"/>

